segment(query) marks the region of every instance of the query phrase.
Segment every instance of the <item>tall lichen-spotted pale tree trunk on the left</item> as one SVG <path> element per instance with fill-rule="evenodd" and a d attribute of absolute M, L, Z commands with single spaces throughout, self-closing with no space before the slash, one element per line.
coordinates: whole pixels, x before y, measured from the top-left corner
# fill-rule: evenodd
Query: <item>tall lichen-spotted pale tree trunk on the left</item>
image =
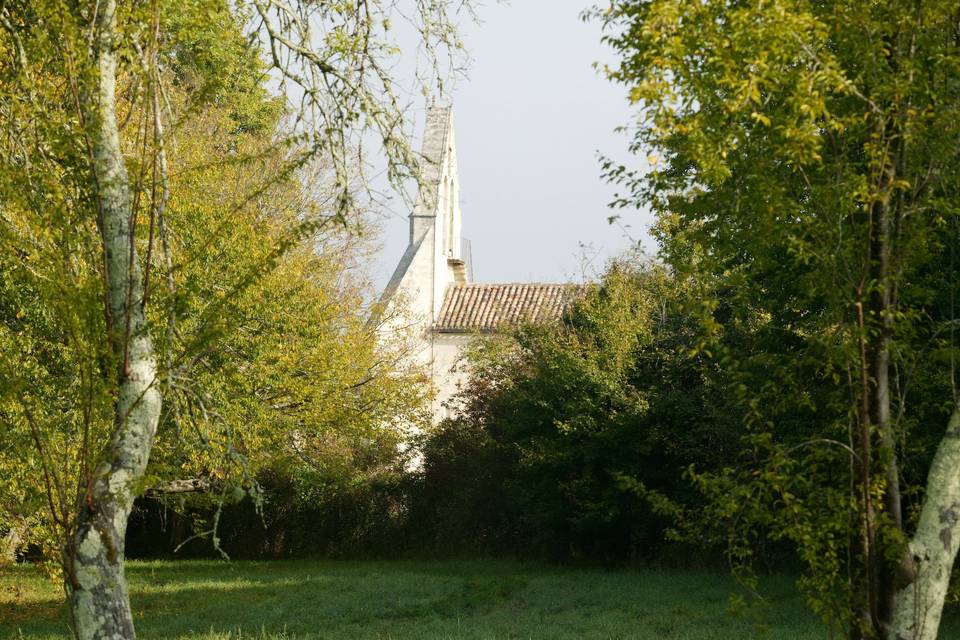
<path fill-rule="evenodd" d="M 110 343 L 119 381 L 114 430 L 64 548 L 74 630 L 82 640 L 135 638 L 123 572 L 124 535 L 160 416 L 153 344 L 143 313 L 130 182 L 116 119 L 116 1 L 100 2 L 96 81 L 83 99 L 106 268 Z"/>

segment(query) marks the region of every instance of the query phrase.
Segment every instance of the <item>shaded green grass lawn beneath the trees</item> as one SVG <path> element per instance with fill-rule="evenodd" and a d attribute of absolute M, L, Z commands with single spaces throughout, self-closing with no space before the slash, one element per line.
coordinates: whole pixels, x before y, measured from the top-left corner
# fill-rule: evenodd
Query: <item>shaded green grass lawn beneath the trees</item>
<path fill-rule="evenodd" d="M 764 630 L 728 612 L 735 585 L 712 573 L 480 560 L 130 562 L 127 573 L 144 639 L 827 637 L 787 578 L 764 584 Z M 0 638 L 68 634 L 58 585 L 0 568 Z"/>

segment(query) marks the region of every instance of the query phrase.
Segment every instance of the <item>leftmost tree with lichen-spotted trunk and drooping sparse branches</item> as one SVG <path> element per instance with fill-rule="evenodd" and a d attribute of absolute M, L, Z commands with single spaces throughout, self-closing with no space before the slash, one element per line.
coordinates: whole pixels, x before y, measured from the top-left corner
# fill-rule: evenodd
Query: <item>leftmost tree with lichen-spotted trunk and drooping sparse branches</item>
<path fill-rule="evenodd" d="M 177 311 L 171 306 L 154 318 L 151 310 L 152 287 L 161 277 L 171 282 L 179 266 L 168 242 L 164 74 L 183 60 L 168 17 L 195 36 L 223 30 L 225 16 L 226 24 L 250 25 L 271 67 L 299 88 L 292 120 L 277 132 L 275 146 L 286 150 L 282 170 L 265 176 L 264 187 L 315 159 L 330 167 L 330 205 L 300 212 L 268 252 L 267 270 L 300 240 L 356 210 L 352 178 L 362 164 L 353 157 L 364 132 L 381 143 L 395 185 L 416 175 L 386 71 L 396 55 L 394 13 L 393 3 L 380 1 L 0 3 L 2 255 L 19 260 L 30 285 L 4 300 L 20 320 L 3 336 L 4 419 L 32 434 L 31 455 L 44 471 L 45 499 L 63 541 L 78 637 L 135 636 L 124 531 L 170 382 L 158 338 L 172 330 Z M 410 13 L 428 51 L 455 53 L 446 3 L 415 1 Z M 58 340 L 47 340 L 51 335 Z M 66 382 L 69 393 L 52 387 L 46 396 L 31 386 L 36 379 Z M 61 444 L 56 459 L 54 440 Z"/>

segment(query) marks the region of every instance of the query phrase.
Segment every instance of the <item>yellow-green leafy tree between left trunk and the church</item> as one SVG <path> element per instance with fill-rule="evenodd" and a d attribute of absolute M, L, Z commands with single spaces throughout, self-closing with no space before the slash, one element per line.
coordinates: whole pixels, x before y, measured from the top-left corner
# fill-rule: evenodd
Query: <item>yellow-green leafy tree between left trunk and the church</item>
<path fill-rule="evenodd" d="M 370 292 L 356 266 L 371 250 L 365 220 L 327 225 L 264 270 L 298 216 L 322 207 L 329 191 L 325 174 L 311 169 L 249 201 L 282 158 L 271 129 L 238 132 L 230 112 L 211 104 L 168 136 L 178 167 L 168 233 L 181 267 L 176 293 L 155 291 L 153 308 L 179 312 L 159 345 L 170 362 L 167 410 L 145 478 L 148 496 L 181 514 L 176 522 L 188 512 L 206 517 L 195 534 L 217 547 L 223 539 L 223 550 L 237 536 L 224 537 L 211 520 L 223 523 L 222 507 L 241 492 L 269 520 L 400 467 L 402 434 L 385 425 L 417 424 L 425 389 L 402 362 L 405 345 L 375 339 L 368 322 Z M 211 167 L 218 149 L 257 159 Z M 287 482 L 301 490 L 280 505 L 271 490 Z M 262 525 L 251 524 L 244 539 L 264 535 Z"/>

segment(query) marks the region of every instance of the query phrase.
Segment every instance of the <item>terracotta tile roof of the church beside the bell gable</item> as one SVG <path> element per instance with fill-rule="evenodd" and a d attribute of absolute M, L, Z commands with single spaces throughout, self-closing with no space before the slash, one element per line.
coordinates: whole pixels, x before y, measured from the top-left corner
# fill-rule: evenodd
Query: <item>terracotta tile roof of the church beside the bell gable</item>
<path fill-rule="evenodd" d="M 497 331 L 520 322 L 551 322 L 583 294 L 569 284 L 460 284 L 447 287 L 436 331 Z"/>

